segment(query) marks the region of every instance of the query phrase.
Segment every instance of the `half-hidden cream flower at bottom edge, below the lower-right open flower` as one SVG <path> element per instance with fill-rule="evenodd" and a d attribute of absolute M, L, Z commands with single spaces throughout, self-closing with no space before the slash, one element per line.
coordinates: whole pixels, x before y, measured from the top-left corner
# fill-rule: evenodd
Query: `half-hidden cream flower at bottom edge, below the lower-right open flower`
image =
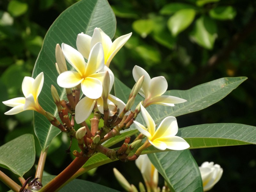
<path fill-rule="evenodd" d="M 156 191 L 154 189 L 156 189 L 158 185 L 158 171 L 150 162 L 148 155 L 140 155 L 138 159 L 135 160 L 135 164 L 140 169 L 146 186 L 149 188 L 148 191 Z"/>

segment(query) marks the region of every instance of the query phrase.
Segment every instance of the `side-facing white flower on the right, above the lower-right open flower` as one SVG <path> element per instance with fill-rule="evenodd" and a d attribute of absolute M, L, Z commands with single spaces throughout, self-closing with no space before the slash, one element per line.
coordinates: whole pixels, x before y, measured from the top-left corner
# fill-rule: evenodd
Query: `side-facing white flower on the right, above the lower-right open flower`
<path fill-rule="evenodd" d="M 138 79 L 144 75 L 143 85 L 139 91 L 140 95 L 145 98 L 143 102 L 144 107 L 148 107 L 152 104 L 174 106 L 176 103 L 183 103 L 187 100 L 179 97 L 162 95 L 166 92 L 168 84 L 163 76 L 150 78 L 148 73 L 141 67 L 135 65 L 132 70 L 134 80 L 137 82 Z"/>

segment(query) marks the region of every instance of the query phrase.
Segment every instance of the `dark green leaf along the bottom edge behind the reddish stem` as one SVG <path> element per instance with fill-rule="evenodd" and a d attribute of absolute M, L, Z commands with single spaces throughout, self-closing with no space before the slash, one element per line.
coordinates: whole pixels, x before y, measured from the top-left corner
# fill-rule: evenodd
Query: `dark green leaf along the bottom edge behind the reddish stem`
<path fill-rule="evenodd" d="M 44 176 L 43 177 L 43 186 L 54 179 L 54 175 Z M 95 192 L 118 192 L 115 189 L 111 189 L 105 187 L 103 185 L 99 185 L 97 183 L 93 183 L 90 181 L 75 179 L 65 185 L 63 188 L 60 189 L 61 192 L 77 192 L 77 191 L 95 191 Z"/>

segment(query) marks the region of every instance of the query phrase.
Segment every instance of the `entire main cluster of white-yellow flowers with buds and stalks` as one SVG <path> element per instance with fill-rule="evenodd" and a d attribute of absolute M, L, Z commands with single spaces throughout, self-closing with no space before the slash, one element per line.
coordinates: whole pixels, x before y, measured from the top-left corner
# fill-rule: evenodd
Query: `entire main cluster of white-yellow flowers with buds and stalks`
<path fill-rule="evenodd" d="M 151 145 L 160 150 L 188 148 L 189 145 L 185 140 L 175 136 L 178 131 L 175 117 L 166 117 L 156 130 L 155 122 L 145 109 L 152 104 L 174 106 L 176 103 L 186 101 L 163 95 L 167 90 L 167 81 L 163 76 L 151 79 L 143 68 L 135 66 L 132 74 L 136 83 L 127 103 L 110 94 L 114 84 L 114 74 L 108 68 L 109 64 L 131 35 L 132 33 L 120 36 L 112 42 L 100 28 L 95 28 L 92 37 L 83 33 L 78 34 L 77 50 L 64 43 L 61 47 L 59 44 L 56 45 L 56 69 L 59 73 L 57 83 L 66 89 L 67 96 L 67 100 L 60 99 L 57 89 L 52 85 L 52 98 L 60 121 L 38 103 L 38 95 L 44 83 L 43 72 L 35 79 L 24 78 L 22 91 L 25 98 L 4 101 L 5 105 L 13 107 L 5 114 L 12 115 L 29 109 L 43 114 L 52 125 L 67 133 L 70 146 L 73 138 L 78 140 L 81 152 L 73 151 L 76 157 L 90 157 L 95 152 L 100 152 L 112 160 L 118 158 L 127 161 L 137 159 L 141 152 Z M 68 70 L 66 60 L 75 70 Z M 131 111 L 138 93 L 145 99 Z M 147 127 L 135 121 L 140 111 Z M 90 119 L 89 128 L 85 120 L 92 112 L 93 118 Z M 100 121 L 103 121 L 101 127 L 99 127 Z M 75 130 L 75 123 L 81 128 Z M 130 142 L 130 137 L 126 137 L 122 146 L 116 150 L 102 145 L 106 140 L 120 135 L 120 131 L 128 129 L 133 123 L 141 132 L 135 140 Z M 146 141 L 141 145 L 145 137 Z M 134 153 L 132 150 L 135 148 L 137 151 Z"/>

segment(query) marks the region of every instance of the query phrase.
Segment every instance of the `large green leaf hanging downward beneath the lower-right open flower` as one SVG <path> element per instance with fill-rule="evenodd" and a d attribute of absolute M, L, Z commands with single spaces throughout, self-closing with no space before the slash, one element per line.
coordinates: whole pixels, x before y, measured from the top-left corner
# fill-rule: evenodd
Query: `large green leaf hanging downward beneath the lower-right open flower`
<path fill-rule="evenodd" d="M 198 165 L 189 150 L 148 154 L 171 191 L 203 191 Z"/>

